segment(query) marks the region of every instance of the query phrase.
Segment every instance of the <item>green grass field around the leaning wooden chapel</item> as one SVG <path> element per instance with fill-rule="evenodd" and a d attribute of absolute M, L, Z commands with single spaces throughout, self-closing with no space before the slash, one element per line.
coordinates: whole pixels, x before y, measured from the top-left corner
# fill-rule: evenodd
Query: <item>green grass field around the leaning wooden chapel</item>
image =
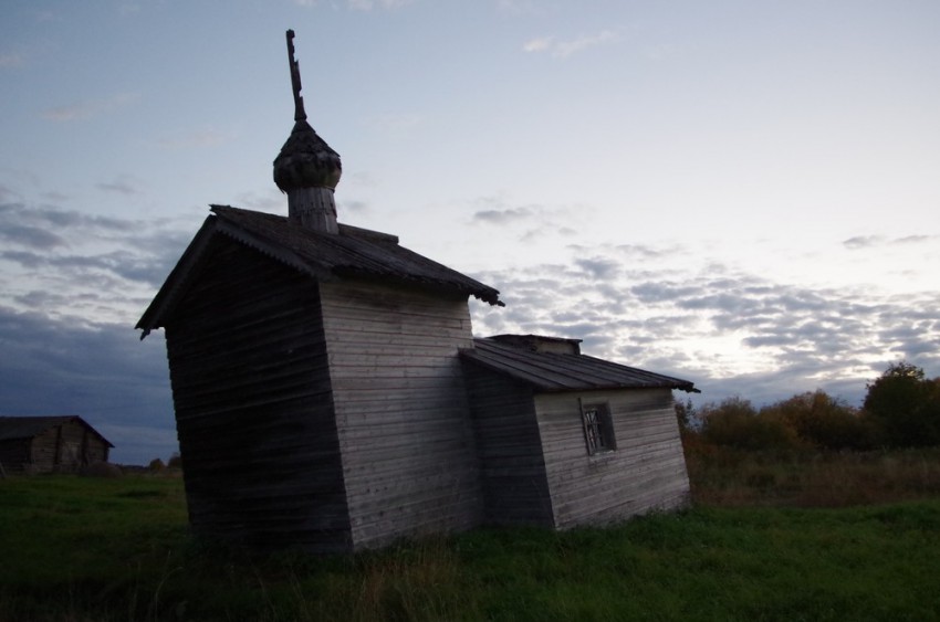
<path fill-rule="evenodd" d="M 194 541 L 178 477 L 2 479 L 0 621 L 940 619 L 937 453 L 690 472 L 679 514 L 326 559 Z"/>

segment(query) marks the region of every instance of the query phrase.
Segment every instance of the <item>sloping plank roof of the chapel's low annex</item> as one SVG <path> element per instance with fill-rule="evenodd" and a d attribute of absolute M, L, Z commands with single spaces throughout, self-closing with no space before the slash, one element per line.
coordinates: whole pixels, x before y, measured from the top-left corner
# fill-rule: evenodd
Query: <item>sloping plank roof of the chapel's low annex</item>
<path fill-rule="evenodd" d="M 537 391 L 664 388 L 699 392 L 688 380 L 586 355 L 537 352 L 495 339 L 473 339 L 473 347 L 461 349 L 460 356 Z"/>

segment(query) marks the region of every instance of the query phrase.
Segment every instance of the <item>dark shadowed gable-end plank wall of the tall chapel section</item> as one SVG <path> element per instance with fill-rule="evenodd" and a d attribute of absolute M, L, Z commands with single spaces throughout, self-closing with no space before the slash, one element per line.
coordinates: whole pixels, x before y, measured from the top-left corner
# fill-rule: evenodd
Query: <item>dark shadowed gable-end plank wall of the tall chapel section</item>
<path fill-rule="evenodd" d="M 194 530 L 349 550 L 316 283 L 238 244 L 210 252 L 166 320 Z"/>

